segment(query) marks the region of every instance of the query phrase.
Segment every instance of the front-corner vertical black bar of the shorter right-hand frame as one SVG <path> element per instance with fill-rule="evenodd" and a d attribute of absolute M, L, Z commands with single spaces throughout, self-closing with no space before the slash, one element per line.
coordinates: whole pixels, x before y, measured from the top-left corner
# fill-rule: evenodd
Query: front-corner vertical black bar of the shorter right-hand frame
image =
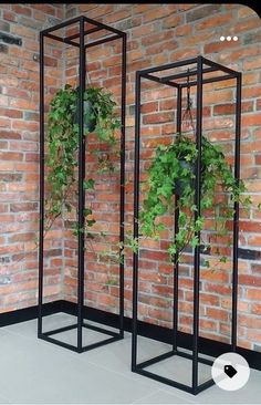
<path fill-rule="evenodd" d="M 196 144 L 197 163 L 195 180 L 195 222 L 199 218 L 200 195 L 201 195 L 201 138 L 202 138 L 202 58 L 198 56 L 197 62 L 197 123 L 196 123 Z M 200 232 L 195 232 L 195 237 L 200 240 Z M 194 252 L 194 334 L 192 334 L 192 391 L 198 387 L 198 334 L 199 334 L 199 280 L 200 280 L 200 247 L 197 246 Z"/>

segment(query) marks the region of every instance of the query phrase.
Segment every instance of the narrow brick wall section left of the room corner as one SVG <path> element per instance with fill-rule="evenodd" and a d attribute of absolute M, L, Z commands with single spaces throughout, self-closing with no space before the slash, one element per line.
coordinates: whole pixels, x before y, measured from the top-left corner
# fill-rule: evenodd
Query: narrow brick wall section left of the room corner
<path fill-rule="evenodd" d="M 0 32 L 21 40 L 0 44 L 0 312 L 36 304 L 39 31 L 63 19 L 62 6 L 0 6 Z M 48 95 L 60 87 L 62 71 L 60 49 L 48 44 L 46 55 Z M 45 243 L 48 300 L 61 292 L 63 242 L 58 232 Z"/>

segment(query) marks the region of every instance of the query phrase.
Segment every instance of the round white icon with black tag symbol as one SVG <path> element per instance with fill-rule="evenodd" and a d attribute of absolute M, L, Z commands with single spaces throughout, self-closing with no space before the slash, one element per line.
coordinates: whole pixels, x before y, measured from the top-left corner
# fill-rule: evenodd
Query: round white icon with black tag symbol
<path fill-rule="evenodd" d="M 244 357 L 237 353 L 225 353 L 213 362 L 211 374 L 215 383 L 222 390 L 236 391 L 249 380 L 250 368 Z"/>

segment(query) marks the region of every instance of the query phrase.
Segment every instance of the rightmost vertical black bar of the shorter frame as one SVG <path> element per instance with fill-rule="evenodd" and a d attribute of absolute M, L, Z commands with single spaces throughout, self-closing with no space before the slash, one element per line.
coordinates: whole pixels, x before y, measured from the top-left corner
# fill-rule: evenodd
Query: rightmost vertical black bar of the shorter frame
<path fill-rule="evenodd" d="M 234 145 L 234 179 L 237 185 L 240 180 L 240 135 L 241 135 L 241 86 L 242 74 L 237 76 L 236 98 L 236 145 Z M 232 268 L 232 325 L 231 325 L 231 349 L 237 347 L 237 310 L 238 310 L 238 239 L 239 239 L 239 202 L 234 202 L 233 214 L 233 268 Z"/>

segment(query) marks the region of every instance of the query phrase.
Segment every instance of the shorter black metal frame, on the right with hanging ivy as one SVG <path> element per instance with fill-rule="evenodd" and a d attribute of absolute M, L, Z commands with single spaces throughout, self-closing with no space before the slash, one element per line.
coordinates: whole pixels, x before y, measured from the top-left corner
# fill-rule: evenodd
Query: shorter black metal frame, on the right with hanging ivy
<path fill-rule="evenodd" d="M 157 74 L 174 68 L 185 68 L 196 64 L 196 69 L 186 72 L 157 76 Z M 215 76 L 207 76 L 209 72 L 216 72 Z M 221 72 L 218 74 L 217 72 Z M 154 74 L 156 73 L 156 75 Z M 186 82 L 175 82 L 175 80 L 188 79 L 196 75 L 196 80 Z M 156 66 L 136 72 L 136 98 L 135 98 L 135 168 L 134 168 L 134 238 L 139 235 L 138 231 L 138 212 L 139 212 L 139 148 L 140 148 L 140 85 L 142 79 L 150 80 L 153 82 L 163 83 L 177 89 L 177 132 L 181 129 L 181 98 L 182 90 L 188 86 L 197 86 L 197 103 L 196 103 L 196 145 L 198 149 L 198 158 L 196 163 L 196 180 L 195 180 L 195 220 L 200 216 L 200 177 L 201 177 L 201 127 L 202 127 L 202 94 L 203 84 L 226 81 L 230 79 L 236 80 L 236 145 L 234 145 L 234 178 L 237 184 L 240 179 L 240 125 L 241 125 L 241 73 L 222 66 L 203 56 L 197 56 L 185 61 L 169 63 L 163 66 Z M 176 204 L 177 204 L 176 196 Z M 175 235 L 178 231 L 178 211 L 176 210 L 175 218 Z M 237 300 L 238 300 L 238 235 L 239 235 L 239 204 L 234 202 L 233 217 L 233 250 L 232 250 L 232 316 L 231 316 L 231 351 L 236 351 L 237 346 Z M 200 238 L 200 232 L 196 232 Z M 174 271 L 174 330 L 173 330 L 173 350 L 158 355 L 148 361 L 137 363 L 137 336 L 138 336 L 138 253 L 133 256 L 133 344 L 132 344 L 132 371 L 161 383 L 180 388 L 194 395 L 208 388 L 213 384 L 212 378 L 199 384 L 198 378 L 198 363 L 201 362 L 207 365 L 212 365 L 212 361 L 199 356 L 198 341 L 199 341 L 199 282 L 200 282 L 200 247 L 195 248 L 194 255 L 194 324 L 192 324 L 192 354 L 182 352 L 177 346 L 178 334 L 178 263 Z M 191 384 L 186 385 L 177 381 L 166 378 L 154 372 L 147 371 L 146 367 L 156 364 L 165 359 L 179 355 L 192 360 L 192 378 Z"/>

